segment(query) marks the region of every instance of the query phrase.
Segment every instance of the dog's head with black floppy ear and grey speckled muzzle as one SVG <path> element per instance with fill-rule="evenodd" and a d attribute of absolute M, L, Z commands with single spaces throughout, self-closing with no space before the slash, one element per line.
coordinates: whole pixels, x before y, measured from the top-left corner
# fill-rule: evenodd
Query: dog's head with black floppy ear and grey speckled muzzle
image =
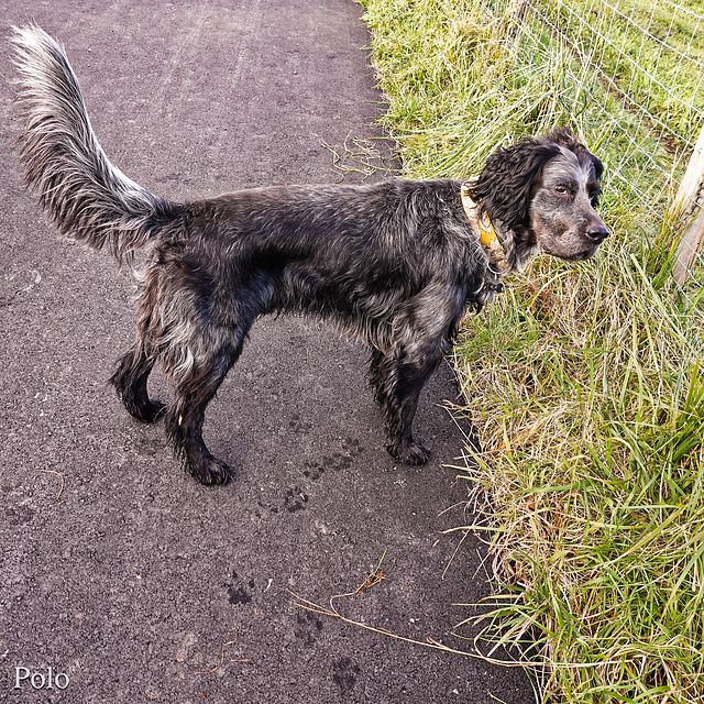
<path fill-rule="evenodd" d="M 539 249 L 563 260 L 586 260 L 608 235 L 596 213 L 602 162 L 566 129 L 494 152 L 472 184 L 482 212 L 513 231 L 504 243 L 515 264 Z"/>

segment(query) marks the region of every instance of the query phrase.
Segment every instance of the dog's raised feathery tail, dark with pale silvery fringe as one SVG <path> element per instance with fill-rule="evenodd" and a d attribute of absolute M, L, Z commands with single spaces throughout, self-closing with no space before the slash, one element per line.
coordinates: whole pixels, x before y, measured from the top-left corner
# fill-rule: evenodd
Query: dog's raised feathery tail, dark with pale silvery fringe
<path fill-rule="evenodd" d="M 35 25 L 15 28 L 13 42 L 26 185 L 62 234 L 131 261 L 182 206 L 150 194 L 110 163 L 61 44 Z"/>

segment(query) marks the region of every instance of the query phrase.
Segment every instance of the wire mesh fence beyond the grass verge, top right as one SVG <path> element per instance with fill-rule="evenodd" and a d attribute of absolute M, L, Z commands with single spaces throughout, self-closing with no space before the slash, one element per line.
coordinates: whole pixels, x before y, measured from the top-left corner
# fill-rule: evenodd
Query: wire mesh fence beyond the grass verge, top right
<path fill-rule="evenodd" d="M 627 186 L 651 228 L 684 232 L 674 274 L 704 263 L 704 0 L 494 0 L 514 52 L 544 51 L 570 65 L 571 110 L 609 179 Z M 689 166 L 689 169 L 688 169 Z M 682 266 L 684 267 L 682 270 Z"/>

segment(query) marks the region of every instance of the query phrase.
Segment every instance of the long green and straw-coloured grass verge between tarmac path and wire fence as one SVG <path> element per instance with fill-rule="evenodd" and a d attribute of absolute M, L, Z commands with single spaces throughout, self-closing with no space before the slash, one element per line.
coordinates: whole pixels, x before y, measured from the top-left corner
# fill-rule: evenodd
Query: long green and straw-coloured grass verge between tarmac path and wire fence
<path fill-rule="evenodd" d="M 672 145 L 570 48 L 536 33 L 516 46 L 484 3 L 363 4 L 407 175 L 470 176 L 558 123 L 607 166 L 614 235 L 596 261 L 537 258 L 455 350 L 483 447 L 476 527 L 505 588 L 486 636 L 535 645 L 546 702 L 702 702 L 704 316 L 668 276 Z"/>

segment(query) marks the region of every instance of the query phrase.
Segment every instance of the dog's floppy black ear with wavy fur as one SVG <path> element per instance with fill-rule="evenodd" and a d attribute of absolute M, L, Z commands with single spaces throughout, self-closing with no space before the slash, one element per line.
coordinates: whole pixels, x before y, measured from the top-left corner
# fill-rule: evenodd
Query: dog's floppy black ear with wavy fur
<path fill-rule="evenodd" d="M 482 212 L 505 228 L 525 227 L 534 182 L 559 153 L 560 146 L 554 142 L 536 139 L 497 150 L 486 160 L 479 178 L 470 182 L 470 196 Z"/>

